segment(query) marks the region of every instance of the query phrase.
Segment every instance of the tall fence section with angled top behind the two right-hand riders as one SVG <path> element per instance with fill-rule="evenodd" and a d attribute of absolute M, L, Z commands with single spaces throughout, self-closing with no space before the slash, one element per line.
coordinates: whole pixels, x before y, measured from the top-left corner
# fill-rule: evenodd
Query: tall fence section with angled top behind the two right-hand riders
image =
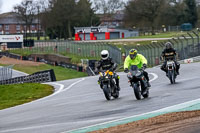
<path fill-rule="evenodd" d="M 155 66 L 161 63 L 160 56 L 165 48 L 166 42 L 169 41 L 173 44 L 173 47 L 178 53 L 178 60 L 183 60 L 200 55 L 199 39 L 199 31 L 191 31 L 185 35 L 163 42 L 152 41 L 152 43 L 148 45 L 136 45 L 134 47 L 125 46 L 125 52 L 127 56 L 129 50 L 135 48 L 138 50 L 138 53 L 143 54 L 147 58 L 149 66 Z"/>

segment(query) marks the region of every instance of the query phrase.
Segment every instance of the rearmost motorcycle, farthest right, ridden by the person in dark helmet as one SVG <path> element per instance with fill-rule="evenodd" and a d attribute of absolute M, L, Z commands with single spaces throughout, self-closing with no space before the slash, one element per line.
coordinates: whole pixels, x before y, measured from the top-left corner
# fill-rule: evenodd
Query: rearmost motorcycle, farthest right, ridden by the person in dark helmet
<path fill-rule="evenodd" d="M 169 78 L 171 84 L 175 84 L 177 76 L 175 62 L 173 60 L 167 61 L 166 69 L 167 69 L 167 77 Z"/>

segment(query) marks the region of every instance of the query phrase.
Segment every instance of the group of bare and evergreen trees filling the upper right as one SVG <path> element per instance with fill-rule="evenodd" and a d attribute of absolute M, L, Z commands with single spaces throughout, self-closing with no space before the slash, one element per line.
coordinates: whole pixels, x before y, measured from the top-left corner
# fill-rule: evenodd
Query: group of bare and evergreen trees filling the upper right
<path fill-rule="evenodd" d="M 126 27 L 155 27 L 176 26 L 191 23 L 197 26 L 200 6 L 195 0 L 131 0 L 125 8 Z M 198 24 L 199 25 L 199 24 Z"/>

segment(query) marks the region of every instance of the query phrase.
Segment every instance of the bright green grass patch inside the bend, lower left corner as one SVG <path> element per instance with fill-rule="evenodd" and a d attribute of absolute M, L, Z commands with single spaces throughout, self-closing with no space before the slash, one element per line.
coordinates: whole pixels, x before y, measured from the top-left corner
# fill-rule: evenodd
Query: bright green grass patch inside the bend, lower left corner
<path fill-rule="evenodd" d="M 0 109 L 31 102 L 48 96 L 53 91 L 52 86 L 37 83 L 0 85 Z"/>

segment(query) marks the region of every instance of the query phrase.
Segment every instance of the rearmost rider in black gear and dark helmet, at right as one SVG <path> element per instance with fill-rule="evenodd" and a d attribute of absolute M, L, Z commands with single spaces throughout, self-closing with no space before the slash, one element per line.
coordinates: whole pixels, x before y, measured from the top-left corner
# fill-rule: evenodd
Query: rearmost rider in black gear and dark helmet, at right
<path fill-rule="evenodd" d="M 173 60 L 176 65 L 176 73 L 179 75 L 180 64 L 176 61 L 176 50 L 172 48 L 172 44 L 167 42 L 165 44 L 165 49 L 161 54 L 161 60 L 164 60 L 163 65 L 161 66 L 161 70 L 167 73 L 166 64 L 168 60 Z"/>

